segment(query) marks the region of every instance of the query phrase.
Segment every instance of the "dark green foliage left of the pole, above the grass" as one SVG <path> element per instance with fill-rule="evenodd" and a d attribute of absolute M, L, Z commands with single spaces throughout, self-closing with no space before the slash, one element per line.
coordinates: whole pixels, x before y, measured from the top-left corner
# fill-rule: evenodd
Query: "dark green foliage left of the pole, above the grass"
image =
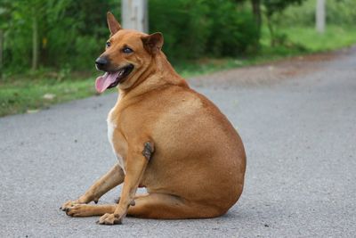
<path fill-rule="evenodd" d="M 116 0 L 4 0 L 0 19 L 6 21 L 0 28 L 4 29 L 5 69 L 21 73 L 29 69 L 35 18 L 42 67 L 92 68 L 109 36 L 106 12 L 114 10 L 119 17 L 119 6 Z"/>

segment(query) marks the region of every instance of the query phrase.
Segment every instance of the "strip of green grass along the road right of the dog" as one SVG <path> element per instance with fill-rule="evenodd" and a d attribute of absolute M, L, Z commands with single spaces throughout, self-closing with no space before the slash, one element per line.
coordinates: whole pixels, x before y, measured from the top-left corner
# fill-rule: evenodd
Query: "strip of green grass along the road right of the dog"
<path fill-rule="evenodd" d="M 184 77 L 208 74 L 218 70 L 255 65 L 263 62 L 277 61 L 286 57 L 309 53 L 321 53 L 356 45 L 356 27 L 342 28 L 328 26 L 325 34 L 320 34 L 314 28 L 284 28 L 278 29 L 279 35 L 286 36 L 282 45 L 271 47 L 271 38 L 267 28 L 263 28 L 261 49 L 247 57 L 200 59 L 191 62 L 179 62 L 174 68 Z"/>

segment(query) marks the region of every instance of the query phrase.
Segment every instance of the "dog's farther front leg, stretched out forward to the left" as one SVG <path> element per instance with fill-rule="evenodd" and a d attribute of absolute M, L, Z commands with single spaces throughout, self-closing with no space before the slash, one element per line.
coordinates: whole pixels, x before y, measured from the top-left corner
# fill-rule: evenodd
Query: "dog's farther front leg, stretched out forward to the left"
<path fill-rule="evenodd" d="M 62 206 L 61 209 L 64 211 L 69 211 L 70 208 L 77 204 L 85 204 L 91 201 L 98 202 L 104 193 L 107 193 L 110 189 L 117 185 L 120 185 L 124 181 L 124 171 L 118 164 L 112 167 L 108 173 L 96 181 L 82 196 L 80 196 L 75 201 L 67 201 Z"/>

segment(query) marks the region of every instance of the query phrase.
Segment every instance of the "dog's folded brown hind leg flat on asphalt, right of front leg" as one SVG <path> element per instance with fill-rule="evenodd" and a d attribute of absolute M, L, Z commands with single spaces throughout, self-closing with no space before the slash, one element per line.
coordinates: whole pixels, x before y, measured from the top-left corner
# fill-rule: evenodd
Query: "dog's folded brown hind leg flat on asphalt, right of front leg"
<path fill-rule="evenodd" d="M 166 193 L 150 193 L 138 198 L 134 206 L 130 206 L 127 216 L 157 219 L 184 219 L 219 217 L 226 211 L 214 205 L 203 205 L 198 202 L 186 201 Z"/>

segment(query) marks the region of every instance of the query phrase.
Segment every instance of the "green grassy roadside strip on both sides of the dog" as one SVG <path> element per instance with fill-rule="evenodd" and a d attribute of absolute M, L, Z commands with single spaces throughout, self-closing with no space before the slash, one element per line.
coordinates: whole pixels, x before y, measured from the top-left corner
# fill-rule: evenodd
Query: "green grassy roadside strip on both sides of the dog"
<path fill-rule="evenodd" d="M 184 77 L 207 74 L 218 70 L 271 62 L 282 58 L 336 50 L 356 44 L 356 29 L 329 26 L 324 35 L 312 28 L 279 29 L 287 36 L 283 45 L 271 47 L 266 29 L 263 29 L 261 51 L 247 58 L 201 59 L 180 62 L 174 68 Z M 94 81 L 99 72 L 88 77 L 77 73 L 53 74 L 37 72 L 35 75 L 13 76 L 0 81 L 0 116 L 36 112 L 54 103 L 85 98 L 95 94 Z"/>

